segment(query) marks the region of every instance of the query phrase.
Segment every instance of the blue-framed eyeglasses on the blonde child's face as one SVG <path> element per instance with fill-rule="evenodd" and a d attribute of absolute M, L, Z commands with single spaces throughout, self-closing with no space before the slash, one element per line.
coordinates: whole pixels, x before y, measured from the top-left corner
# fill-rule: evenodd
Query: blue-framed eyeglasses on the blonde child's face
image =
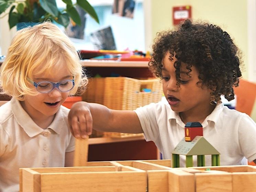
<path fill-rule="evenodd" d="M 27 78 L 27 80 L 35 86 L 36 90 L 40 93 L 49 93 L 51 92 L 55 87 L 61 91 L 61 92 L 68 92 L 75 86 L 74 78 L 73 80 L 63 80 L 58 83 L 50 82 L 50 81 L 40 81 L 38 83 L 30 80 Z"/>

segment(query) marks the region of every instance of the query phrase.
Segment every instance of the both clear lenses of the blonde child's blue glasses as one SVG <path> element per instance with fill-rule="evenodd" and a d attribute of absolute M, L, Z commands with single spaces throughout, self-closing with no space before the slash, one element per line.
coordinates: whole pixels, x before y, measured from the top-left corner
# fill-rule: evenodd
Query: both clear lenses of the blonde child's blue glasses
<path fill-rule="evenodd" d="M 74 87 L 74 83 L 71 80 L 64 80 L 59 82 L 58 89 L 62 92 L 71 90 Z M 37 90 L 41 93 L 50 92 L 54 88 L 51 82 L 41 82 L 37 84 Z"/>

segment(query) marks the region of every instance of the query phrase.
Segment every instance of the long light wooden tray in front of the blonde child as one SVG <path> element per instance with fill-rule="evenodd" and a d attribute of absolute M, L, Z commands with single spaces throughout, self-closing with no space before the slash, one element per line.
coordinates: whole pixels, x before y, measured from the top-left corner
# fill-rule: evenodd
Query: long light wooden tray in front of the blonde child
<path fill-rule="evenodd" d="M 147 187 L 146 172 L 123 166 L 24 168 L 23 192 L 141 191 Z"/>

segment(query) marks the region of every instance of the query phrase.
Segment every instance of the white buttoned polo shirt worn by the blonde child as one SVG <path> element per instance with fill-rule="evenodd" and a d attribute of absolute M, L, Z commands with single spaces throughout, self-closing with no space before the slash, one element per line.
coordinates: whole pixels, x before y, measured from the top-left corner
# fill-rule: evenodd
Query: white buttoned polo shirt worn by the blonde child
<path fill-rule="evenodd" d="M 19 191 L 19 168 L 64 167 L 75 150 L 69 109 L 60 106 L 47 129 L 37 126 L 16 99 L 0 107 L 0 192 Z"/>

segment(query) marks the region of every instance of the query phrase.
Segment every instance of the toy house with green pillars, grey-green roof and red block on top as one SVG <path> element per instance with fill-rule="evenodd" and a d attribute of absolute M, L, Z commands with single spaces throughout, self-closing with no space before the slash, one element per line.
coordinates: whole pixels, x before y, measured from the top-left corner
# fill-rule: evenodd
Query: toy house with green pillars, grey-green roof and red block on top
<path fill-rule="evenodd" d="M 220 165 L 220 153 L 204 137 L 199 122 L 188 122 L 185 137 L 172 151 L 172 167 L 179 167 L 179 155 L 186 155 L 186 167 L 193 167 L 193 155 L 197 155 L 197 166 L 205 166 L 204 155 L 212 155 L 212 166 Z"/>

